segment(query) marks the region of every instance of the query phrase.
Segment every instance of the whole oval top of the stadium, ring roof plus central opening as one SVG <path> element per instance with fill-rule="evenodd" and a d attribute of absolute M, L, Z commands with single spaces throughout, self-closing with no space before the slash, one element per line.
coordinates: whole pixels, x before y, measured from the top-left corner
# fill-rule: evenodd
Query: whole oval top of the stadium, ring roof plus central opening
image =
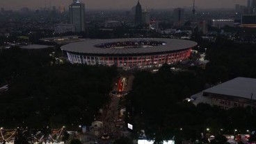
<path fill-rule="evenodd" d="M 125 45 L 127 44 L 127 45 Z M 94 39 L 62 46 L 63 51 L 91 55 L 144 55 L 192 48 L 197 43 L 183 39 L 127 38 Z"/>

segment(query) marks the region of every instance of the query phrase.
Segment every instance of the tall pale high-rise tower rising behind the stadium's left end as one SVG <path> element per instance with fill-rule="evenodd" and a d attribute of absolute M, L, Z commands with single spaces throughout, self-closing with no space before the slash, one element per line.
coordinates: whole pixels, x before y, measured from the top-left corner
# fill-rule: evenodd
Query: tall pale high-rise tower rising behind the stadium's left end
<path fill-rule="evenodd" d="M 85 31 L 85 8 L 84 3 L 74 0 L 70 5 L 70 24 L 74 24 L 76 32 Z"/>

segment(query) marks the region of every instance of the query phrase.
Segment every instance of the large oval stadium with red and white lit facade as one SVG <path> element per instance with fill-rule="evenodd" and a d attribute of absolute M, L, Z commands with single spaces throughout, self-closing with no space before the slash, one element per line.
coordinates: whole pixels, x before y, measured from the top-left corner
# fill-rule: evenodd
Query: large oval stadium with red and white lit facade
<path fill-rule="evenodd" d="M 145 69 L 186 60 L 197 43 L 184 39 L 90 39 L 61 46 L 72 64 Z"/>

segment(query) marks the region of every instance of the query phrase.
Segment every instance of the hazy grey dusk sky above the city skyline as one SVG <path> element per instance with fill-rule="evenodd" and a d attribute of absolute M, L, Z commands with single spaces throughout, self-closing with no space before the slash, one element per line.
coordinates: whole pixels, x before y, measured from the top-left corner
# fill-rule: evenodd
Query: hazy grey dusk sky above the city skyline
<path fill-rule="evenodd" d="M 88 9 L 120 9 L 131 8 L 137 0 L 81 0 L 86 4 Z M 177 8 L 177 7 L 191 7 L 193 0 L 140 0 L 143 8 Z M 45 2 L 47 6 L 60 6 L 64 4 L 68 6 L 72 0 L 0 0 L 0 8 L 6 10 L 20 8 L 44 8 Z M 247 0 L 195 0 L 195 6 L 198 8 L 234 8 L 234 4 L 246 5 Z"/>

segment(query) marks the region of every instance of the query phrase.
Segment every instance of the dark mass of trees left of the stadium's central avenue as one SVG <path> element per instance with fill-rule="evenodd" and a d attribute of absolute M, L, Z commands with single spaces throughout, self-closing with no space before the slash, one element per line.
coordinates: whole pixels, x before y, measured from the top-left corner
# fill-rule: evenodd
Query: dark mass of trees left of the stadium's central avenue
<path fill-rule="evenodd" d="M 9 84 L 0 96 L 1 127 L 90 125 L 108 102 L 114 67 L 52 64 L 49 53 L 1 53 L 1 78 Z"/>

